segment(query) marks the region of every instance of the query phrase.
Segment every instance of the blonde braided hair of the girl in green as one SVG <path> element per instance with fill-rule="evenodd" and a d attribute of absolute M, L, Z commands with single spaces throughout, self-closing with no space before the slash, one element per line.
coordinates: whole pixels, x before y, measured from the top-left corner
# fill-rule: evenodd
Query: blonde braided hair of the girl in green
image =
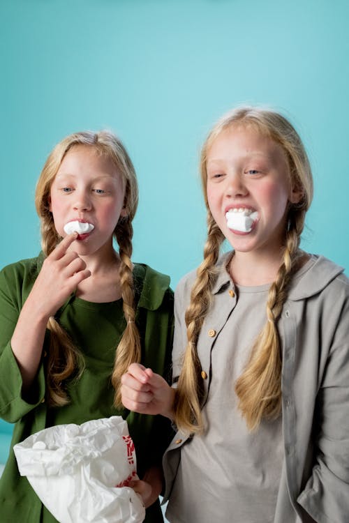
<path fill-rule="evenodd" d="M 114 386 L 114 404 L 121 406 L 120 383 L 121 376 L 133 362 L 140 361 L 140 334 L 135 324 L 135 297 L 133 288 L 132 255 L 132 220 L 138 206 L 138 183 L 131 158 L 119 138 L 112 132 L 76 132 L 64 138 L 48 156 L 36 185 L 36 211 L 40 218 L 41 245 L 45 256 L 50 255 L 61 241 L 54 227 L 50 212 L 50 189 L 66 153 L 75 146 L 88 146 L 96 153 L 112 161 L 125 185 L 124 206 L 126 217 L 119 218 L 114 229 L 114 237 L 119 245 L 121 260 L 119 275 L 121 282 L 121 296 L 126 319 L 126 328 L 121 337 L 115 354 L 114 369 L 112 371 L 112 385 Z M 82 356 L 73 341 L 70 340 L 64 328 L 54 317 L 50 317 L 47 328 L 50 329 L 50 349 L 47 355 L 47 400 L 54 406 L 62 406 L 69 402 L 66 393 L 66 381 L 82 372 Z"/>

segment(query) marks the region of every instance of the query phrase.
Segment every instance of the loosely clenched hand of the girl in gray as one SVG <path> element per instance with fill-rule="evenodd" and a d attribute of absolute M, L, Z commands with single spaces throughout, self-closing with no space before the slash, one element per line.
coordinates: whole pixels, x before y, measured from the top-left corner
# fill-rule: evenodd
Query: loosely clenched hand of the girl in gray
<path fill-rule="evenodd" d="M 126 409 L 140 414 L 173 418 L 174 389 L 160 374 L 140 363 L 132 363 L 121 377 L 121 401 Z"/>

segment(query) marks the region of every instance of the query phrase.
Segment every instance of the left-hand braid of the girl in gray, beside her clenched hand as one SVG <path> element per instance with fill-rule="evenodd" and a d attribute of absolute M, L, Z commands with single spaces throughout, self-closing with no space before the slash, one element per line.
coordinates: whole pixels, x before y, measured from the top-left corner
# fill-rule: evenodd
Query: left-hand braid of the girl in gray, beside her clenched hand
<path fill-rule="evenodd" d="M 188 432 L 202 430 L 200 400 L 203 390 L 200 376 L 201 365 L 196 345 L 211 303 L 211 289 L 216 278 L 215 266 L 224 238 L 211 213 L 208 214 L 207 223 L 208 234 L 204 248 L 204 260 L 198 268 L 197 278 L 191 291 L 191 303 L 185 314 L 188 344 L 184 353 L 174 404 L 175 423 L 181 430 Z"/>

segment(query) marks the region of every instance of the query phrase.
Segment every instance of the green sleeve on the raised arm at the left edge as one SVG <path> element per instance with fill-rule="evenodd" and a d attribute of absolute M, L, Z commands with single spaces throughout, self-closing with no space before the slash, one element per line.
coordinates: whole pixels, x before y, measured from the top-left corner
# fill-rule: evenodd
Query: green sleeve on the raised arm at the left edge
<path fill-rule="evenodd" d="M 30 402 L 22 397 L 22 377 L 10 340 L 22 307 L 22 282 L 14 266 L 0 272 L 0 416 L 15 423 L 34 409 L 45 395 L 45 376 L 40 365 Z"/>

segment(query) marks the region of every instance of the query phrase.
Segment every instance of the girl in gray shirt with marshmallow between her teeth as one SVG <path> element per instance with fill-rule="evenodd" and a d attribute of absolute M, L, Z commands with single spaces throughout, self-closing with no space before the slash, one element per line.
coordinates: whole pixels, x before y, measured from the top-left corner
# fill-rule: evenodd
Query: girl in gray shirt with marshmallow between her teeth
<path fill-rule="evenodd" d="M 208 236 L 175 294 L 173 386 L 136 364 L 121 386 L 125 407 L 177 427 L 166 517 L 348 522 L 349 280 L 299 248 L 302 141 L 281 114 L 238 108 L 209 133 L 201 173 Z"/>

